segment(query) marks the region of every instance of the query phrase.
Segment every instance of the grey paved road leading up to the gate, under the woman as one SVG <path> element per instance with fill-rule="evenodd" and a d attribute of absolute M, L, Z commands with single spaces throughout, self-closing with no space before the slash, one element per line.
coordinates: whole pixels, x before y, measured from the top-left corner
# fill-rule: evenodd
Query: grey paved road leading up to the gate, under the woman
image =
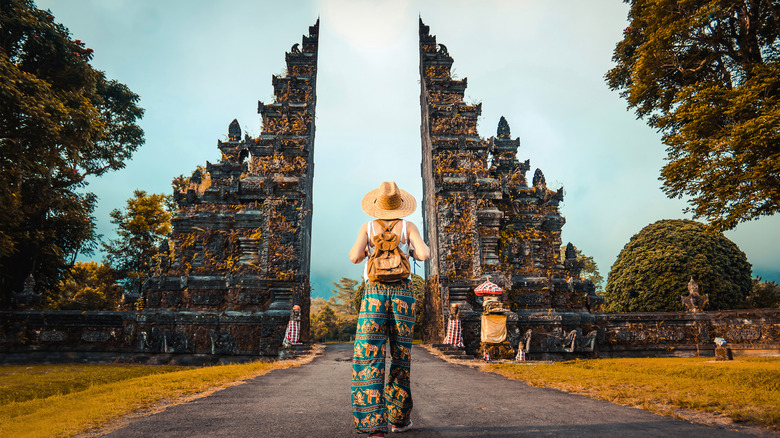
<path fill-rule="evenodd" d="M 328 345 L 324 355 L 308 365 L 271 371 L 247 384 L 140 418 L 107 436 L 357 438 L 349 401 L 351 348 Z M 415 427 L 398 436 L 742 436 L 534 388 L 444 362 L 419 347 L 412 357 Z"/>

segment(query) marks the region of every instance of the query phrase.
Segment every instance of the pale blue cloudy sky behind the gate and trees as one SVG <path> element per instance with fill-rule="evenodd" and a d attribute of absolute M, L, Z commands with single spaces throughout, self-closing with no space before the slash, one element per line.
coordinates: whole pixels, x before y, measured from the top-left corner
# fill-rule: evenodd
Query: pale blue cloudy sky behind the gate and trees
<path fill-rule="evenodd" d="M 646 225 L 688 218 L 658 180 L 661 136 L 610 91 L 604 74 L 627 26 L 619 0 L 38 0 L 92 48 L 92 65 L 141 96 L 146 144 L 125 169 L 91 181 L 98 232 L 136 189 L 171 193 L 171 180 L 219 161 L 217 140 L 236 118 L 256 136 L 257 101 L 271 102 L 284 52 L 319 17 L 312 229 L 312 296 L 358 279 L 347 253 L 368 216 L 365 193 L 394 180 L 421 201 L 418 17 L 482 102 L 479 133 L 503 115 L 518 158 L 565 190 L 563 243 L 592 256 L 605 277 Z M 383 163 L 377 166 L 376 163 Z M 409 218 L 422 224 L 419 208 Z M 726 232 L 753 275 L 780 282 L 780 216 Z M 90 258 L 100 259 L 101 254 Z M 422 267 L 417 268 L 421 273 Z M 705 291 L 706 292 L 706 291 Z"/>

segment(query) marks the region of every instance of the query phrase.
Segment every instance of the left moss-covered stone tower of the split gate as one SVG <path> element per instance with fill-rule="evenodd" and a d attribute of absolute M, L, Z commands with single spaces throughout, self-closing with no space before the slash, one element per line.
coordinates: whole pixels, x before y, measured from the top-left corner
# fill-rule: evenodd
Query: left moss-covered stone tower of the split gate
<path fill-rule="evenodd" d="M 295 304 L 308 336 L 318 36 L 319 20 L 272 77 L 260 136 L 234 120 L 220 161 L 174 180 L 173 233 L 143 289 L 147 350 L 275 355 Z"/>

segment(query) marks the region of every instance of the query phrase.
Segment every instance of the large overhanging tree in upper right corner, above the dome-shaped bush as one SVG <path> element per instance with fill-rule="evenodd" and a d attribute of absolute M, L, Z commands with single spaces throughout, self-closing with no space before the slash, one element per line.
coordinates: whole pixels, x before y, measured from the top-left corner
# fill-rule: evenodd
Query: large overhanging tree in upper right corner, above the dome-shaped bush
<path fill-rule="evenodd" d="M 663 133 L 664 192 L 721 231 L 780 211 L 780 2 L 626 2 L 606 79 Z"/>

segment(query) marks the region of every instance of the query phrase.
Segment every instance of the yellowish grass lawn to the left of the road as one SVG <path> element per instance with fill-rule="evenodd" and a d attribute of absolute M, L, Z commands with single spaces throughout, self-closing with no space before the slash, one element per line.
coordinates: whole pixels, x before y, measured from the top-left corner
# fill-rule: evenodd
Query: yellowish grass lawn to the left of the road
<path fill-rule="evenodd" d="M 0 436 L 73 436 L 162 402 L 229 386 L 301 361 L 204 368 L 127 365 L 0 366 Z"/>

